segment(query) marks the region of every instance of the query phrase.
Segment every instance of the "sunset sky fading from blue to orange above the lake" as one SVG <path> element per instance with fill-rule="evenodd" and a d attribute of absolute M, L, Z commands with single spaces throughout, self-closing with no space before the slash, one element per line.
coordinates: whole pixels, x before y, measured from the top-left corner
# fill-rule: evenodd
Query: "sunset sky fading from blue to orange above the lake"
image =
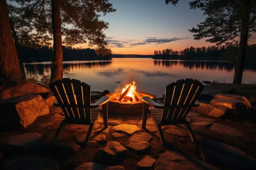
<path fill-rule="evenodd" d="M 152 55 L 155 50 L 215 45 L 194 40 L 188 31 L 206 18 L 203 11 L 190 9 L 189 1 L 179 0 L 174 6 L 165 0 L 109 0 L 117 11 L 100 17 L 109 23 L 104 30 L 108 48 L 114 54 Z M 252 43 L 255 35 L 249 40 Z"/>

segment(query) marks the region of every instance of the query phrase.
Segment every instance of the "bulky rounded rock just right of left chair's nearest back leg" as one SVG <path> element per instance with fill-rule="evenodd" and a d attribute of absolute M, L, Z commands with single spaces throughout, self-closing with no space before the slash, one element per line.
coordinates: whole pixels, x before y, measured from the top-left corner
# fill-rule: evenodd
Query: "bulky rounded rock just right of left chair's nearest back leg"
<path fill-rule="evenodd" d="M 109 141 L 105 147 L 99 149 L 94 155 L 100 163 L 114 164 L 125 158 L 127 149 L 117 141 Z"/>

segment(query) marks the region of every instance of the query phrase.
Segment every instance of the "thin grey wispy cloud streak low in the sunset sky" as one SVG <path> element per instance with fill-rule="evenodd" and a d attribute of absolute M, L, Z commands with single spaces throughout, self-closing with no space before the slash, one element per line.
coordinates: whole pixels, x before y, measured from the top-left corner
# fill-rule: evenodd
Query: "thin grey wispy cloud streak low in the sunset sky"
<path fill-rule="evenodd" d="M 110 47 L 117 47 L 117 48 L 124 48 L 124 47 L 134 47 L 139 45 L 146 45 L 146 44 L 163 44 L 169 43 L 172 41 L 177 41 L 181 39 L 191 39 L 189 37 L 186 38 L 158 38 L 158 37 L 147 37 L 143 41 L 139 40 L 116 40 L 114 37 L 107 37 L 106 42 Z"/>

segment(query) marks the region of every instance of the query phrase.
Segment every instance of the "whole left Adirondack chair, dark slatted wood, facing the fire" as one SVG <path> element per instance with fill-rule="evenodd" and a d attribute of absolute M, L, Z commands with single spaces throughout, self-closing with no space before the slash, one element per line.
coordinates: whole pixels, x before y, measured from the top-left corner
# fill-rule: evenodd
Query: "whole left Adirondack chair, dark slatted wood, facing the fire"
<path fill-rule="evenodd" d="M 103 114 L 104 128 L 108 127 L 108 97 L 103 96 L 97 102 L 91 103 L 90 85 L 70 78 L 59 79 L 51 84 L 50 88 L 58 101 L 54 105 L 60 106 L 65 114 L 55 138 L 59 135 L 64 123 L 89 125 L 85 139 L 85 144 L 87 144 L 100 113 Z"/>

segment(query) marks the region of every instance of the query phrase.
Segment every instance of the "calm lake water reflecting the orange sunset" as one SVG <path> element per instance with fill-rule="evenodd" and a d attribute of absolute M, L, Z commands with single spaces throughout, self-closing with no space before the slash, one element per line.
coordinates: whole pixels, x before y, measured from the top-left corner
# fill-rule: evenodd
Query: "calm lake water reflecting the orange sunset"
<path fill-rule="evenodd" d="M 27 76 L 49 74 L 51 62 L 24 63 Z M 152 58 L 113 58 L 108 61 L 64 62 L 64 77 L 91 85 L 92 91 L 114 92 L 136 81 L 137 90 L 161 97 L 165 86 L 183 78 L 232 83 L 234 63 L 216 61 L 154 60 Z M 245 66 L 243 84 L 256 84 L 256 63 Z"/>

